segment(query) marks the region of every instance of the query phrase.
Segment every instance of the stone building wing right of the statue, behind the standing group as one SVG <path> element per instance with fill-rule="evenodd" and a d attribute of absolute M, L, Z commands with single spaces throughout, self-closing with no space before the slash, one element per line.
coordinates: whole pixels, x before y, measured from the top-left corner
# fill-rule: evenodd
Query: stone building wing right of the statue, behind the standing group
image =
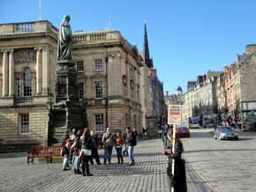
<path fill-rule="evenodd" d="M 113 30 L 72 35 L 77 62 L 79 98 L 85 100 L 88 127 L 103 133 L 105 127 L 141 127 L 138 48 Z"/>

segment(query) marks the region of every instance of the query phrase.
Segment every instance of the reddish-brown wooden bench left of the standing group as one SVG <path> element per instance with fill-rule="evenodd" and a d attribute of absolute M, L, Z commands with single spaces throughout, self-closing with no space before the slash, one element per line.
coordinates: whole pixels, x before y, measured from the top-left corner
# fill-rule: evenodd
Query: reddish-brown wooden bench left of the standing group
<path fill-rule="evenodd" d="M 34 158 L 45 158 L 47 163 L 52 163 L 52 157 L 62 156 L 60 154 L 62 146 L 33 146 L 31 151 L 27 152 L 26 163 L 34 163 Z"/>

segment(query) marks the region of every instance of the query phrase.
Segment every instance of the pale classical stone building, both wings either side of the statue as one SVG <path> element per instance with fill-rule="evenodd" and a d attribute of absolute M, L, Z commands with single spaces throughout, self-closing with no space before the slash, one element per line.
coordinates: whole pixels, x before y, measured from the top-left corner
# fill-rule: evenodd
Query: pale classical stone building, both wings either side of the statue
<path fill-rule="evenodd" d="M 0 25 L 0 144 L 47 144 L 56 100 L 58 29 L 49 21 Z M 114 30 L 72 35 L 79 99 L 87 124 L 141 127 L 140 68 L 135 45 Z"/>

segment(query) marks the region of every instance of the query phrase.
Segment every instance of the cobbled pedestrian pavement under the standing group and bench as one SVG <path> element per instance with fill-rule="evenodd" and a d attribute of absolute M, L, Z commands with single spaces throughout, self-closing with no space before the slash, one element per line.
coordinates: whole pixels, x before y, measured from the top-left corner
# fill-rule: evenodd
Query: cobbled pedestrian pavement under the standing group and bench
<path fill-rule="evenodd" d="M 16 154 L 15 158 L 0 154 L 0 191 L 169 192 L 167 157 L 161 154 L 161 149 L 161 139 L 140 141 L 135 148 L 135 166 L 116 164 L 114 156 L 111 165 L 90 166 L 92 177 L 63 172 L 60 163 L 27 166 L 24 154 Z M 116 154 L 115 149 L 113 153 Z M 124 158 L 124 162 L 128 159 Z M 187 178 L 189 192 L 210 191 L 190 166 Z"/>

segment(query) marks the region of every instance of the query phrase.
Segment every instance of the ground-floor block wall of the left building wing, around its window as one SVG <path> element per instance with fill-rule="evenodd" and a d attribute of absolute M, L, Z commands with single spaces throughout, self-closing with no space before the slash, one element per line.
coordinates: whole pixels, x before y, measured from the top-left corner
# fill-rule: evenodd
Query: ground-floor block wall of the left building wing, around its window
<path fill-rule="evenodd" d="M 20 133 L 19 114 L 29 114 L 28 134 Z M 46 139 L 49 110 L 47 107 L 0 108 L 1 144 L 42 144 Z"/>

